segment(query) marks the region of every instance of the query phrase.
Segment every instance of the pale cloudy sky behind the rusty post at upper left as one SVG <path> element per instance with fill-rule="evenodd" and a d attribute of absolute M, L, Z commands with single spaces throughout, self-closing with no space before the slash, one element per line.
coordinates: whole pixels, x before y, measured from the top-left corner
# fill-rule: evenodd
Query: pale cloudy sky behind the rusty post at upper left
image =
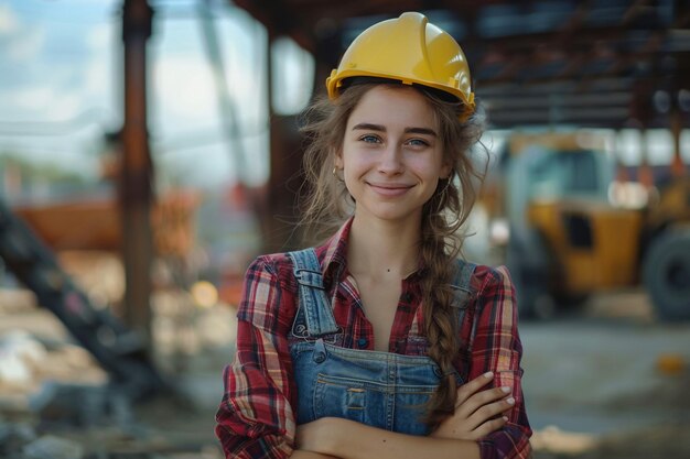
<path fill-rule="evenodd" d="M 240 125 L 227 135 L 205 53 L 198 0 L 150 0 L 149 131 L 157 171 L 183 186 L 218 186 L 268 174 L 266 32 L 225 0 L 211 1 L 225 84 Z M 0 153 L 97 174 L 106 132 L 122 122 L 121 0 L 0 0 Z M 273 65 L 309 78 L 304 53 L 279 42 Z M 274 53 L 276 54 L 276 53 Z M 304 70 L 306 69 L 306 70 Z M 309 95 L 279 90 L 274 107 L 299 111 Z M 235 165 L 244 155 L 242 171 Z"/>

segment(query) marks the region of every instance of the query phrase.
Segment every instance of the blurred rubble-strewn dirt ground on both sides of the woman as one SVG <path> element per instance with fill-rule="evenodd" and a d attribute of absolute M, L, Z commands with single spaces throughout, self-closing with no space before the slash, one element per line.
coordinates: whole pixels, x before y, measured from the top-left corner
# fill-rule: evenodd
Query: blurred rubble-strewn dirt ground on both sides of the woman
<path fill-rule="evenodd" d="M 175 395 L 96 414 L 85 425 L 69 420 L 69 406 L 46 415 L 32 401 L 50 381 L 98 387 L 105 373 L 31 295 L 3 292 L 0 345 L 21 341 L 21 330 L 43 350 L 29 358 L 25 380 L 0 374 L 0 457 L 220 458 L 214 414 L 233 353 L 234 310 L 187 308 L 174 298 L 157 304 L 157 359 Z M 520 330 L 535 458 L 690 457 L 690 324 L 661 324 L 644 293 L 623 292 L 524 321 Z"/>

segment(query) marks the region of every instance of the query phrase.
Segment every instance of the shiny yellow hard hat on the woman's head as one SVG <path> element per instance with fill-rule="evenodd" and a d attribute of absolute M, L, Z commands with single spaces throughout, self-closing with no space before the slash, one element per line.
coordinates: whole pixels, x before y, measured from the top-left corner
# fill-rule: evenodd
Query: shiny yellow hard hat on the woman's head
<path fill-rule="evenodd" d="M 475 109 L 465 54 L 448 32 L 420 13 L 406 12 L 362 32 L 326 78 L 328 97 L 336 99 L 343 80 L 352 77 L 395 79 L 448 92 L 463 102 L 463 120 Z"/>

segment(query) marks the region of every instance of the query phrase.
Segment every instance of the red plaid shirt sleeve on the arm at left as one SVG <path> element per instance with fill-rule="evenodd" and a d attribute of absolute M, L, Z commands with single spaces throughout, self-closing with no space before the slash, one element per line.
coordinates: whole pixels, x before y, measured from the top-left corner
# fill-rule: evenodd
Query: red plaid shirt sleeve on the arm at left
<path fill-rule="evenodd" d="M 292 453 L 295 387 L 287 337 L 294 300 L 282 293 L 270 259 L 257 259 L 245 276 L 237 352 L 224 371 L 216 413 L 215 431 L 227 458 L 283 459 Z"/>

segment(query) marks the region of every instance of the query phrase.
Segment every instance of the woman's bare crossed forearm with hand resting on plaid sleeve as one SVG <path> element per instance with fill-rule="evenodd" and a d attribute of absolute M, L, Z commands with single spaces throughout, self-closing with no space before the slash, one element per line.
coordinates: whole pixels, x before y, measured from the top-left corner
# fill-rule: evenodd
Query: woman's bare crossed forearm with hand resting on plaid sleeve
<path fill-rule="evenodd" d="M 407 459 L 420 457 L 479 458 L 476 440 L 502 428 L 515 400 L 510 387 L 482 390 L 493 373 L 481 375 L 457 390 L 455 413 L 428 437 L 398 434 L 336 417 L 298 427 L 293 459 Z"/>

